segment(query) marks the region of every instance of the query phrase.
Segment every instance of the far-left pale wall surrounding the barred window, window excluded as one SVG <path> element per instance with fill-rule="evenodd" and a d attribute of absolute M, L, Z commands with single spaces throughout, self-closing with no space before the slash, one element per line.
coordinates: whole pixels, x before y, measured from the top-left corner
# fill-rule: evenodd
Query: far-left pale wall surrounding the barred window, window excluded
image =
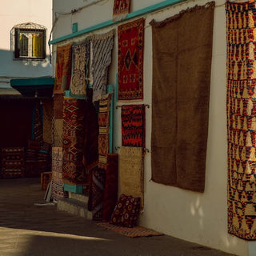
<path fill-rule="evenodd" d="M 10 87 L 10 78 L 33 78 L 51 75 L 49 47 L 52 26 L 52 0 L 0 0 L 0 88 Z M 10 30 L 24 22 L 46 26 L 46 59 L 43 61 L 13 60 Z"/>

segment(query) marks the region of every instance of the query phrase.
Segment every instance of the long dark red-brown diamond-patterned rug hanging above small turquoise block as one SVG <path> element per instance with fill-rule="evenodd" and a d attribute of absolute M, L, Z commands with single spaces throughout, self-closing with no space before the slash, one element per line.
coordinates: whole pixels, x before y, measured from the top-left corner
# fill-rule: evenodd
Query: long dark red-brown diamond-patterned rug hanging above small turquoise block
<path fill-rule="evenodd" d="M 83 143 L 86 104 L 82 99 L 64 98 L 63 110 L 63 180 L 70 184 L 85 182 Z"/>

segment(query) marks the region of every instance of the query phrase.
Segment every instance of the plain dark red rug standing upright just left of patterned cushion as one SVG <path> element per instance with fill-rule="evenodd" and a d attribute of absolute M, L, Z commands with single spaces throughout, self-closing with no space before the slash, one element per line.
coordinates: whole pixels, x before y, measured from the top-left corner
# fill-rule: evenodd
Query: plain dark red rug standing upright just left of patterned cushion
<path fill-rule="evenodd" d="M 110 221 L 114 206 L 118 201 L 118 154 L 107 154 L 106 157 L 106 183 L 102 220 Z"/>

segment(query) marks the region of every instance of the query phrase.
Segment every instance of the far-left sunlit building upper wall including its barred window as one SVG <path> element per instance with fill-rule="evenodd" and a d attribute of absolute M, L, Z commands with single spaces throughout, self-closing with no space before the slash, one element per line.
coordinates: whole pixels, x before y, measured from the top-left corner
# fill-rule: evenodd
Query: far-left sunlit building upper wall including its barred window
<path fill-rule="evenodd" d="M 10 79 L 50 77 L 52 2 L 3 1 L 0 18 L 0 88 L 10 88 Z"/>

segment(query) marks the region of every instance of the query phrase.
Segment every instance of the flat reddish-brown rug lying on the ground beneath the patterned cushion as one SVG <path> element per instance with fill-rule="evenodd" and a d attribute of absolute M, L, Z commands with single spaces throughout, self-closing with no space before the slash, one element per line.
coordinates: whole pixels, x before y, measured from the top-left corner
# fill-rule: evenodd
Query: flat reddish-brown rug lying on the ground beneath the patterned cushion
<path fill-rule="evenodd" d="M 123 234 L 126 237 L 130 238 L 139 238 L 139 237 L 151 237 L 156 235 L 163 235 L 155 230 L 146 229 L 146 227 L 142 226 L 134 226 L 132 228 L 125 226 L 115 226 L 108 222 L 98 222 L 95 223 L 98 226 L 104 227 L 106 230 L 114 231 L 118 234 Z"/>

